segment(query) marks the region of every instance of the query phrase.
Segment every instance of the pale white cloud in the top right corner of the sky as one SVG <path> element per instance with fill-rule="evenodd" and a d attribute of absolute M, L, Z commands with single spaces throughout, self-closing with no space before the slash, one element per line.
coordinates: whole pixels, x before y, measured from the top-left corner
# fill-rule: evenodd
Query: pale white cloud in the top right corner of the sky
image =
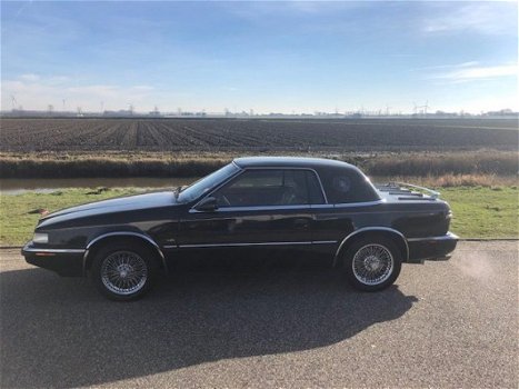
<path fill-rule="evenodd" d="M 513 2 L 480 2 L 452 9 L 441 4 L 440 14 L 423 22 L 426 33 L 479 32 L 485 34 L 516 34 L 517 4 Z"/>

